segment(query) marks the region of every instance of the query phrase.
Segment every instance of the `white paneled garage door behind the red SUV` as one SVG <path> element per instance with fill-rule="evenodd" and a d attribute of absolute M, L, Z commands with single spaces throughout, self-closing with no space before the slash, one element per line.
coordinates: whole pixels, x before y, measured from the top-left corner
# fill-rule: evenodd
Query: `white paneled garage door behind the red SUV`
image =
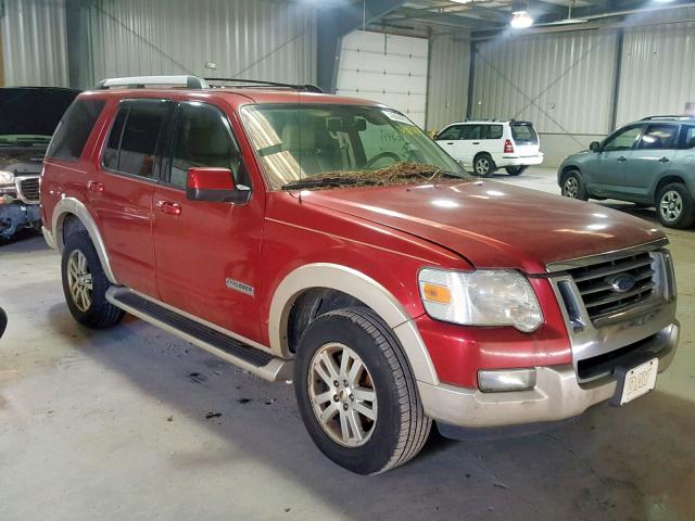
<path fill-rule="evenodd" d="M 343 38 L 337 90 L 397 109 L 425 128 L 428 40 L 356 30 Z"/>

